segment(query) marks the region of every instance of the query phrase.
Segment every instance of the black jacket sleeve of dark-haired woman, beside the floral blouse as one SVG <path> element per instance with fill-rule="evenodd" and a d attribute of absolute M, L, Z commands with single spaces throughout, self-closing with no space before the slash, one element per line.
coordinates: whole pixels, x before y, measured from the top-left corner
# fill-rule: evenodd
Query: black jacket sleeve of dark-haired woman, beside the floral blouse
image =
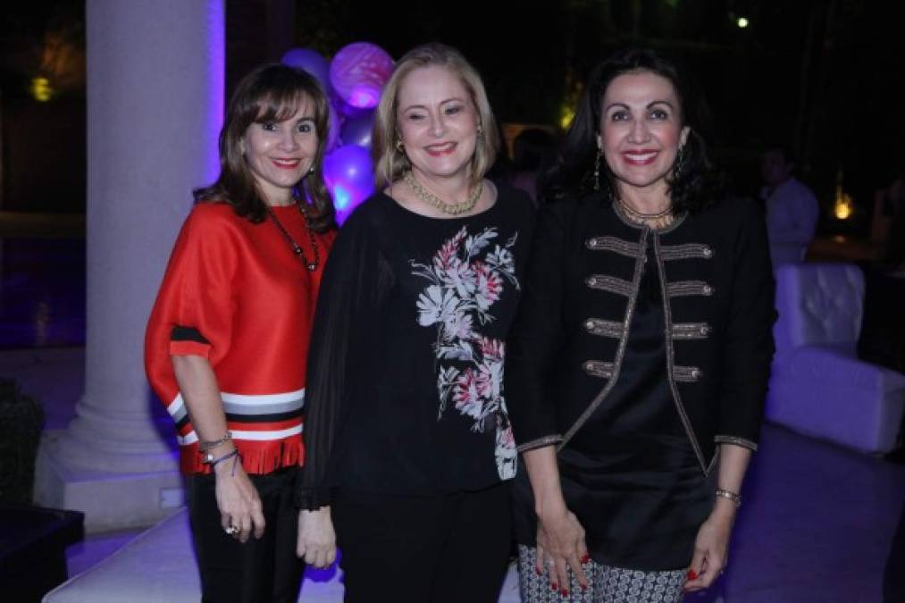
<path fill-rule="evenodd" d="M 538 212 L 519 313 L 506 349 L 506 397 L 519 452 L 556 444 L 548 376 L 564 345 L 565 224 L 562 202 Z"/>

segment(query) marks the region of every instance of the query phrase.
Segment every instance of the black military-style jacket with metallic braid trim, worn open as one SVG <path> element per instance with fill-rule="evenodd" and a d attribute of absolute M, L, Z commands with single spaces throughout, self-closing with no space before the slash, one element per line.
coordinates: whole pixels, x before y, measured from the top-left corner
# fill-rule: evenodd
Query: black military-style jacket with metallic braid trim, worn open
<path fill-rule="evenodd" d="M 505 373 L 520 451 L 567 445 L 605 401 L 643 269 L 659 272 L 665 369 L 701 471 L 719 443 L 757 449 L 776 320 L 762 212 L 729 199 L 657 232 L 595 194 L 538 215 Z"/>

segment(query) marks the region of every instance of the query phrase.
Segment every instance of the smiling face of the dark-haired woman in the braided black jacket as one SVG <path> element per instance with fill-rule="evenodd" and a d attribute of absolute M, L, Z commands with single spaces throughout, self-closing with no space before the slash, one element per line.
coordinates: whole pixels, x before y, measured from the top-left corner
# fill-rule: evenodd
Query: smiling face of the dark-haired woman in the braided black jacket
<path fill-rule="evenodd" d="M 628 72 L 606 87 L 597 146 L 618 189 L 666 187 L 689 128 L 672 82 L 653 72 Z"/>

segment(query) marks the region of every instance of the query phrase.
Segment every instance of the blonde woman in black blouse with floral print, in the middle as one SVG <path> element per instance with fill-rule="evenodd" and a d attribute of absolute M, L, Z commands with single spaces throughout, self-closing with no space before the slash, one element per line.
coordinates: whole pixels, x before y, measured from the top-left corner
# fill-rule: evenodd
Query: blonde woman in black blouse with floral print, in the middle
<path fill-rule="evenodd" d="M 504 340 L 534 211 L 486 172 L 499 148 L 481 78 L 429 44 L 376 109 L 380 191 L 339 232 L 311 340 L 299 552 L 346 601 L 491 603 L 516 472 Z"/>

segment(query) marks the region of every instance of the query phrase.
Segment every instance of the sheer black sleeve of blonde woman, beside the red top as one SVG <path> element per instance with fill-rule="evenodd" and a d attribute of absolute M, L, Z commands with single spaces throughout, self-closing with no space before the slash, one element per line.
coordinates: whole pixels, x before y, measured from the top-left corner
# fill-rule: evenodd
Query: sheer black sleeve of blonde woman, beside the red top
<path fill-rule="evenodd" d="M 345 426 L 354 412 L 352 367 L 362 338 L 392 283 L 367 203 L 350 215 L 330 251 L 320 283 L 305 387 L 305 464 L 296 495 L 302 509 L 330 503 Z"/>

